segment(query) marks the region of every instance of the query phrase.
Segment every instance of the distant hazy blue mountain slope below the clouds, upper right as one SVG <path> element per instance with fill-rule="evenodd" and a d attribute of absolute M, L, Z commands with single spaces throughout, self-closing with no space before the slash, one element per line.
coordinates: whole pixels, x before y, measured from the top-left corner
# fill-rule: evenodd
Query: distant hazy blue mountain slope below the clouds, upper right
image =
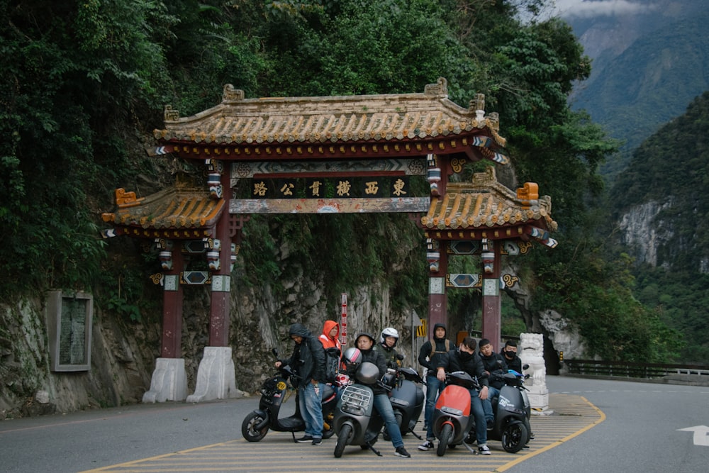
<path fill-rule="evenodd" d="M 603 72 L 578 87 L 574 109 L 586 109 L 610 136 L 624 141 L 601 167 L 608 182 L 642 140 L 709 89 L 709 9 L 703 10 L 652 30 L 613 60 L 601 58 Z"/>

